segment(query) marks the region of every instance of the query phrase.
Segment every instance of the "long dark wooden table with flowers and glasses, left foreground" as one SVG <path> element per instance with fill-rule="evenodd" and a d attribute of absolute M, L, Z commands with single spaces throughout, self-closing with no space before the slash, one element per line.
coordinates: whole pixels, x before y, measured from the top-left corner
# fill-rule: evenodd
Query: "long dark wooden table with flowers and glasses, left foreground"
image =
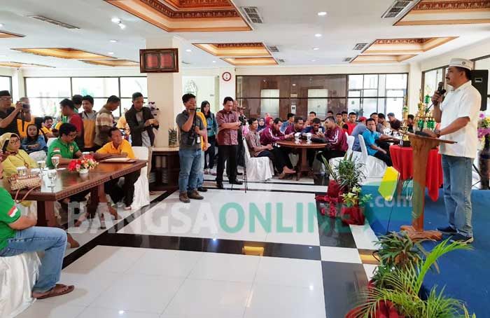
<path fill-rule="evenodd" d="M 37 201 L 38 226 L 57 226 L 55 219 L 55 202 L 68 198 L 71 195 L 90 190 L 90 205 L 87 206 L 88 212 L 92 214 L 97 210 L 99 204 L 99 188 L 104 186 L 106 181 L 123 177 L 125 174 L 140 170 L 146 166 L 146 160 L 136 160 L 133 163 L 99 163 L 94 170 L 90 170 L 85 176 L 80 176 L 76 172 L 69 172 L 67 169 L 57 171 L 53 187 L 48 177 L 43 177 L 41 189 L 31 191 L 25 200 Z M 66 166 L 59 165 L 59 168 Z M 58 168 L 58 169 L 59 169 Z M 15 196 L 16 191 L 10 191 L 10 185 L 6 179 L 3 180 L 4 188 Z M 22 198 L 27 191 L 20 191 L 19 198 Z"/>

